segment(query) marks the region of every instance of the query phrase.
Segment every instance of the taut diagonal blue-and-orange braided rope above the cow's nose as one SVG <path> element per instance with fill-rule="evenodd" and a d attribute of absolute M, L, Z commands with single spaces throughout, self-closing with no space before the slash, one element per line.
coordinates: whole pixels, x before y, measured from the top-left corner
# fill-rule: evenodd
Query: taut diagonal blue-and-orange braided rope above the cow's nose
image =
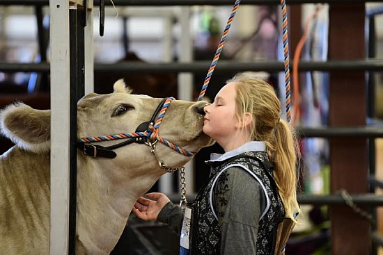
<path fill-rule="evenodd" d="M 228 35 L 228 31 L 230 29 L 231 22 L 233 22 L 233 19 L 235 17 L 235 13 L 237 13 L 237 9 L 238 9 L 238 7 L 240 7 L 240 2 L 241 2 L 241 0 L 237 0 L 234 3 L 233 9 L 231 10 L 230 17 L 228 17 L 228 22 L 226 22 L 226 28 L 224 30 L 224 33 L 222 34 L 221 41 L 219 41 L 218 49 L 215 52 L 214 58 L 212 60 L 212 64 L 209 67 L 208 74 L 206 75 L 205 81 L 203 82 L 201 93 L 199 94 L 197 101 L 201 101 L 203 99 L 203 96 L 205 95 L 205 92 L 206 92 L 206 89 L 208 88 L 212 73 L 214 72 L 214 69 L 217 66 L 219 56 L 221 55 L 221 51 L 224 48 L 226 36 Z"/>

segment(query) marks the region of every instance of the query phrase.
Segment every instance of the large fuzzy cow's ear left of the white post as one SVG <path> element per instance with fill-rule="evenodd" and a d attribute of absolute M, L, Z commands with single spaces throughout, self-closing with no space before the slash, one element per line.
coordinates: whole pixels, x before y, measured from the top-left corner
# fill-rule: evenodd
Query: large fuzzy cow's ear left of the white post
<path fill-rule="evenodd" d="M 1 133 L 23 149 L 40 152 L 50 148 L 50 110 L 12 104 L 0 112 Z"/>

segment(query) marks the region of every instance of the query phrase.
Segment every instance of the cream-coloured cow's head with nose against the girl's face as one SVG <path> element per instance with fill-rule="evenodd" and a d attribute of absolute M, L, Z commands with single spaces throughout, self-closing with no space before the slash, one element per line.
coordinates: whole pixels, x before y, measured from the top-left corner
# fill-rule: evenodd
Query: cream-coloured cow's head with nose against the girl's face
<path fill-rule="evenodd" d="M 77 112 L 79 138 L 134 133 L 140 124 L 148 122 L 153 117 L 162 100 L 146 95 L 130 94 L 123 80 L 114 84 L 114 91 L 113 94 L 88 94 L 79 100 Z M 210 138 L 202 133 L 205 104 L 205 102 L 171 101 L 159 124 L 159 137 L 192 152 L 210 144 Z M 109 147 L 122 141 L 94 144 Z M 155 147 L 156 154 L 169 167 L 180 167 L 190 160 L 188 156 L 183 156 L 159 141 Z M 155 158 L 150 154 L 150 147 L 142 144 L 130 144 L 114 151 L 117 154 L 116 158 L 123 159 L 125 163 L 127 158 L 135 158 L 134 163 L 137 167 L 142 162 L 149 163 L 149 158 Z M 137 161 L 139 158 L 142 159 L 141 162 Z"/>

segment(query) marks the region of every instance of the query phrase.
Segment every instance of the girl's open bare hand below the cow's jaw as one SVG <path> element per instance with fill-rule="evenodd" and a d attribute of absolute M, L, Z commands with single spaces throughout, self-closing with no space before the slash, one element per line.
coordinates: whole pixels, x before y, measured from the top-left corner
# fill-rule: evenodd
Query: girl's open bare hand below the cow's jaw
<path fill-rule="evenodd" d="M 141 220 L 157 220 L 159 211 L 168 204 L 170 199 L 163 193 L 148 193 L 145 197 L 140 197 L 132 208 L 132 213 Z"/>

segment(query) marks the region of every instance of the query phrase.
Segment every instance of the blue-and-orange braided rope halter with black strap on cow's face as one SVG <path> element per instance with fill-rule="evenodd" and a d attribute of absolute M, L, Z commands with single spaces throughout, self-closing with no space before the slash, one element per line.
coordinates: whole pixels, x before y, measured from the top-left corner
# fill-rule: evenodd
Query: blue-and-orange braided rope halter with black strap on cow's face
<path fill-rule="evenodd" d="M 184 167 L 177 167 L 177 168 L 167 167 L 166 165 L 164 165 L 164 162 L 161 161 L 158 158 L 157 154 L 155 153 L 155 143 L 159 141 L 159 142 L 162 142 L 164 145 L 170 147 L 174 151 L 177 151 L 178 153 L 183 154 L 185 156 L 194 156 L 196 154 L 196 152 L 194 151 L 188 151 L 187 149 L 178 147 L 173 142 L 166 140 L 165 138 L 163 138 L 161 135 L 158 134 L 159 125 L 161 124 L 162 119 L 164 118 L 166 109 L 168 108 L 169 104 L 173 100 L 174 100 L 173 97 L 167 97 L 162 99 L 161 103 L 157 106 L 155 113 L 153 113 L 153 116 L 151 117 L 150 121 L 141 123 L 137 127 L 136 132 L 118 133 L 114 135 L 92 136 L 92 137 L 81 138 L 77 142 L 77 147 L 79 147 L 79 149 L 82 149 L 84 151 L 84 154 L 88 156 L 93 156 L 93 157 L 102 156 L 106 158 L 114 158 L 117 156 L 117 154 L 116 152 L 113 151 L 113 149 L 117 149 L 119 147 L 129 145 L 132 142 L 143 143 L 145 145 L 150 146 L 150 151 L 155 156 L 155 158 L 157 158 L 159 167 L 166 170 L 166 172 L 173 173 L 177 170 L 182 170 L 182 168 Z M 126 140 L 125 142 L 120 142 L 116 145 L 111 145 L 109 147 L 102 147 L 100 145 L 92 144 L 92 142 L 103 142 L 103 141 L 119 140 L 119 139 L 126 139 Z"/>

